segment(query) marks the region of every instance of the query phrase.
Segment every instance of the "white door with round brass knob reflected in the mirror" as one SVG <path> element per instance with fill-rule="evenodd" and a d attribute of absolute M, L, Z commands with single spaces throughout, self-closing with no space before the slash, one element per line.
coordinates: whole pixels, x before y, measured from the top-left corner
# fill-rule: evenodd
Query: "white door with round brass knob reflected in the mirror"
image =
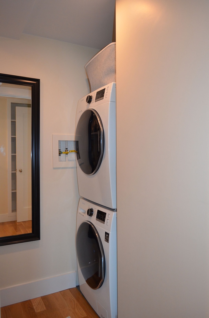
<path fill-rule="evenodd" d="M 32 219 L 31 108 L 16 107 L 17 222 Z"/>

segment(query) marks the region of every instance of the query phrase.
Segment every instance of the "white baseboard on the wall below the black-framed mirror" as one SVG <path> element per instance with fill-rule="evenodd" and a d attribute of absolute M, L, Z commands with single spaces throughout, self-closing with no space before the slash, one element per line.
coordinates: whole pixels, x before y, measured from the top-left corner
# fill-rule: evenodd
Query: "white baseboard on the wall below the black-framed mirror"
<path fill-rule="evenodd" d="M 0 289 L 1 307 L 76 287 L 76 272 Z"/>

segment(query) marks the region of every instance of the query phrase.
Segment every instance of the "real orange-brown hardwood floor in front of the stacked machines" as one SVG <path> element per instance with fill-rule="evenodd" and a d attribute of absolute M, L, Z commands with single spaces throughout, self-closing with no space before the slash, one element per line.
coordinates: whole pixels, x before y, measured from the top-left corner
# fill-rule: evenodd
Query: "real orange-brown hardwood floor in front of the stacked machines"
<path fill-rule="evenodd" d="M 1 318 L 98 318 L 79 290 L 58 293 L 19 302 L 1 308 Z"/>

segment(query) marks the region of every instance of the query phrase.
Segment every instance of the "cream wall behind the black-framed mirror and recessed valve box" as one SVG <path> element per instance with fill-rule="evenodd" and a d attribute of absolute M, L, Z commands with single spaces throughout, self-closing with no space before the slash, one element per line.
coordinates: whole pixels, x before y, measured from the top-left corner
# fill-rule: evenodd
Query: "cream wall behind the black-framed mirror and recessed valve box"
<path fill-rule="evenodd" d="M 74 134 L 77 101 L 89 93 L 84 65 L 96 53 L 28 35 L 0 38 L 1 73 L 40 79 L 41 189 L 41 240 L 0 247 L 2 289 L 76 271 L 76 169 L 53 169 L 52 134 Z"/>

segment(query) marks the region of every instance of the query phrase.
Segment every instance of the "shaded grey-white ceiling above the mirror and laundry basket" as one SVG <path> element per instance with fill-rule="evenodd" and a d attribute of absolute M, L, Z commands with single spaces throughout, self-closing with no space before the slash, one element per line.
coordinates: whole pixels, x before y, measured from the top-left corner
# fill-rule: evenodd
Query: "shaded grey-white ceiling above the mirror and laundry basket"
<path fill-rule="evenodd" d="M 115 0 L 0 0 L 0 36 L 23 33 L 102 49 L 112 42 Z"/>

